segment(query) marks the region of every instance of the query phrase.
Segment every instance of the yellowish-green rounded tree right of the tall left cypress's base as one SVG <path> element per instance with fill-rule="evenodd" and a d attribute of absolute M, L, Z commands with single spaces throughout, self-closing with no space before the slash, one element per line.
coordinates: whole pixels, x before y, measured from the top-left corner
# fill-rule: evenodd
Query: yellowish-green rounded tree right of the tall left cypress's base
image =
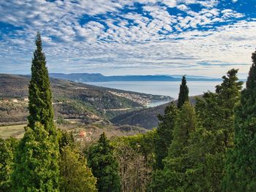
<path fill-rule="evenodd" d="M 97 191 L 97 179 L 87 166 L 86 158 L 69 145 L 63 147 L 61 151 L 60 174 L 60 191 Z"/>

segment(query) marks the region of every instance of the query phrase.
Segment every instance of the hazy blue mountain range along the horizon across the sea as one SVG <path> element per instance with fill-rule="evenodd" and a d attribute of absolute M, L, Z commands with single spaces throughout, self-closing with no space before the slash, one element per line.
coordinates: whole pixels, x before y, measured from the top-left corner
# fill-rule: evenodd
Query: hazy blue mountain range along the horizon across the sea
<path fill-rule="evenodd" d="M 105 76 L 95 73 L 50 73 L 50 77 L 75 82 L 110 82 L 110 81 L 181 81 L 182 75 L 123 75 L 123 76 Z M 221 81 L 220 78 L 187 75 L 187 81 Z"/>

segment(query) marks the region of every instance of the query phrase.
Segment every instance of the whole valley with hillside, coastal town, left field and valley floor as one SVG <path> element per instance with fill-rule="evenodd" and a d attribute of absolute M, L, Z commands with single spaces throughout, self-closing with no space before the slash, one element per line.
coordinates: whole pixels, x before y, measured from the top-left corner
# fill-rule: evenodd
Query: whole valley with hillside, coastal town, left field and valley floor
<path fill-rule="evenodd" d="M 50 82 L 56 122 L 60 119 L 66 122 L 61 123 L 61 126 L 57 123 L 58 127 L 72 127 L 76 132 L 79 132 L 80 127 L 93 128 L 99 134 L 108 127 L 105 131 L 110 136 L 144 132 L 145 128 L 133 126 L 129 122 L 115 126 L 112 119 L 127 112 L 146 109 L 151 102 L 172 99 L 170 96 L 121 91 L 54 78 L 50 78 Z M 28 85 L 29 76 L 0 74 L 0 136 L 3 138 L 23 136 L 23 127 L 29 114 Z M 120 131 L 122 128 L 127 131 Z"/>

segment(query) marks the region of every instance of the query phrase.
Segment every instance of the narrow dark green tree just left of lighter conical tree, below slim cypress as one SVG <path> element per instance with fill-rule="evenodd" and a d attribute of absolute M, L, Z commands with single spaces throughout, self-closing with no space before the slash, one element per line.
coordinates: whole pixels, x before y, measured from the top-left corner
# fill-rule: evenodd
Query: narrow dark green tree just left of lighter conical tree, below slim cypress
<path fill-rule="evenodd" d="M 168 147 L 173 139 L 173 128 L 175 125 L 175 119 L 177 115 L 177 107 L 172 102 L 165 108 L 165 114 L 158 115 L 159 126 L 157 127 L 157 134 L 154 138 L 154 149 L 156 155 L 156 164 L 154 169 L 163 169 L 164 164 L 162 159 L 167 156 Z"/>

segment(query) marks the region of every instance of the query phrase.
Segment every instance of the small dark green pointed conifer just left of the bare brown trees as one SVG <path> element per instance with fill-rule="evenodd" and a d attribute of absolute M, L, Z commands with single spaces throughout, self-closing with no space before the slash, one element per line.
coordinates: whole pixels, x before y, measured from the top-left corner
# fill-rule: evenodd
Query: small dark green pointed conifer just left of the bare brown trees
<path fill-rule="evenodd" d="M 121 191 L 118 161 L 105 133 L 100 135 L 97 145 L 89 148 L 88 163 L 94 177 L 97 177 L 99 192 Z"/>

